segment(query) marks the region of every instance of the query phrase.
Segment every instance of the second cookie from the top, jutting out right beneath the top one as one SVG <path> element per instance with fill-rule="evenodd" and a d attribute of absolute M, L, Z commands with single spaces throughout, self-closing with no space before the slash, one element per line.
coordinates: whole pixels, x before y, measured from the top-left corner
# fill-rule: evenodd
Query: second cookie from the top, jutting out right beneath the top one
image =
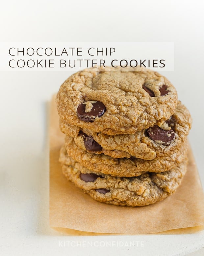
<path fill-rule="evenodd" d="M 162 158 L 177 152 L 186 140 L 191 128 L 191 115 L 178 101 L 174 114 L 162 127 L 137 131 L 135 134 L 106 135 L 69 125 L 60 120 L 60 129 L 74 138 L 80 148 L 95 154 L 105 154 L 116 158 L 134 156 L 145 160 Z M 117 151 L 116 151 L 117 150 Z M 127 153 L 125 156 L 123 153 Z"/>

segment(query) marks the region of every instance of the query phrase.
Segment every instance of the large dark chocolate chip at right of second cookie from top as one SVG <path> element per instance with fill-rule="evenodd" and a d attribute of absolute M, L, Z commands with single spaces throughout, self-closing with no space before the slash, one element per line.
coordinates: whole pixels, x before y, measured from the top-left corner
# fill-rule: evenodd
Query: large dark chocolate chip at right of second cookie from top
<path fill-rule="evenodd" d="M 147 129 L 147 136 L 154 141 L 161 140 L 163 142 L 171 142 L 175 137 L 175 133 L 172 129 L 163 130 L 155 125 Z"/>

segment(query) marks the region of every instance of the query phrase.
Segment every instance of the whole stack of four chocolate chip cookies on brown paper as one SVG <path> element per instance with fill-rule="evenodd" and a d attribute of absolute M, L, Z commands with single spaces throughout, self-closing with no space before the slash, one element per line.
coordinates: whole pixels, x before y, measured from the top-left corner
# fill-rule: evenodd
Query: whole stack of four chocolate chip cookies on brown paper
<path fill-rule="evenodd" d="M 191 116 L 164 76 L 90 68 L 71 75 L 56 101 L 63 173 L 93 199 L 143 206 L 180 186 Z"/>

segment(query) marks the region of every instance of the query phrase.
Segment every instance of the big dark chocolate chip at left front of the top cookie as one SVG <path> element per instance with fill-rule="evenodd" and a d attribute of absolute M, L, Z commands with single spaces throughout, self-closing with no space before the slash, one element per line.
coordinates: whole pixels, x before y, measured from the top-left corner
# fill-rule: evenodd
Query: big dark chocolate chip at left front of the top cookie
<path fill-rule="evenodd" d="M 97 116 L 101 117 L 105 111 L 106 107 L 104 104 L 96 100 L 86 101 L 77 107 L 78 118 L 88 122 L 92 122 Z"/>

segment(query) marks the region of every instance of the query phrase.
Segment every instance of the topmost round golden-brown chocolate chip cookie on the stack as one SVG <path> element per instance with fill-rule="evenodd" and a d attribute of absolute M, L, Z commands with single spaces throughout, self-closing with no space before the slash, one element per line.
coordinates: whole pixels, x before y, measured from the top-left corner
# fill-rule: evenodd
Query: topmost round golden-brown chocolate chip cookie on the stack
<path fill-rule="evenodd" d="M 174 113 L 177 92 L 164 76 L 144 68 L 109 70 L 89 68 L 71 75 L 56 97 L 59 116 L 71 125 L 114 135 L 161 126 Z"/>

